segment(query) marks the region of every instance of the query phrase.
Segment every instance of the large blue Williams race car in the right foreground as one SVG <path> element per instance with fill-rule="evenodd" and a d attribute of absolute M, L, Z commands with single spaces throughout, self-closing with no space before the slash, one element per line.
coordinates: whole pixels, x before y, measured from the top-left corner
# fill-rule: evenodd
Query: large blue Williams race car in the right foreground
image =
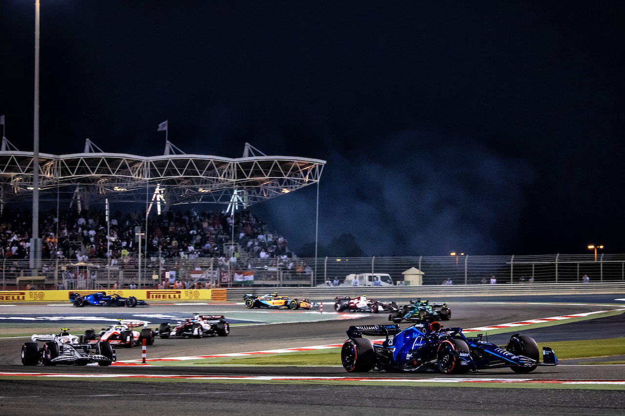
<path fill-rule="evenodd" d="M 514 334 L 505 348 L 482 339 L 467 338 L 461 328 L 441 327 L 439 322 L 421 323 L 401 330 L 397 324 L 355 325 L 341 349 L 341 361 L 348 372 L 439 371 L 459 374 L 482 369 L 509 367 L 529 373 L 538 365 L 557 365 L 556 354 L 542 348 L 542 362 L 536 341 Z M 362 335 L 386 336 L 381 345 Z"/>

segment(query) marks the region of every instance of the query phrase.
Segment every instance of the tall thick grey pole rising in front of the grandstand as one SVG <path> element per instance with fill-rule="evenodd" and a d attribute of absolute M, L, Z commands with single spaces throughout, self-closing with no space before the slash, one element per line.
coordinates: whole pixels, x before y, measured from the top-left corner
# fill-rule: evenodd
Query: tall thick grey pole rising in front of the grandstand
<path fill-rule="evenodd" d="M 41 267 L 41 239 L 39 238 L 39 0 L 35 0 L 35 97 L 32 141 L 32 235 L 31 275 Z"/>

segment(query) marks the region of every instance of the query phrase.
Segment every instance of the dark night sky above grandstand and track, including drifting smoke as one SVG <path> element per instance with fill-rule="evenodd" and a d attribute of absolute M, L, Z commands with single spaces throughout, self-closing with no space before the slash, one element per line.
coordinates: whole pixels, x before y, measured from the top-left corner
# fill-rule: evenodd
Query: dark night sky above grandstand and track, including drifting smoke
<path fill-rule="evenodd" d="M 0 2 L 32 151 L 34 0 Z M 41 152 L 327 161 L 319 241 L 366 255 L 625 253 L 623 1 L 41 0 Z M 297 247 L 316 187 L 252 207 Z M 209 207 L 207 207 L 208 209 Z"/>

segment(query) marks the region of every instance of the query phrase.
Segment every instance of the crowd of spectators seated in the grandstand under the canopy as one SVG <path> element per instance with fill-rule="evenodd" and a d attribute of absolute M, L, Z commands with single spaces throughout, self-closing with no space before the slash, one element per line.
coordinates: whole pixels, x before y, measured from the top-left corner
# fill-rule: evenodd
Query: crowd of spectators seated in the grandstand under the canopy
<path fill-rule="evenodd" d="M 106 259 L 110 235 L 113 262 L 134 262 L 138 254 L 135 234 L 146 232 L 145 211 L 116 211 L 111 214 L 109 224 L 102 211 L 68 209 L 59 214 L 56 215 L 56 210 L 39 214 L 42 259 Z M 28 259 L 31 232 L 29 210 L 4 209 L 0 216 L 0 257 Z M 287 240 L 277 232 L 268 232 L 265 222 L 249 210 L 236 212 L 234 216 L 196 209 L 150 215 L 146 234 L 142 244 L 147 244 L 147 254 L 151 257 L 216 257 L 220 264 L 241 258 L 269 262 L 292 257 Z"/>

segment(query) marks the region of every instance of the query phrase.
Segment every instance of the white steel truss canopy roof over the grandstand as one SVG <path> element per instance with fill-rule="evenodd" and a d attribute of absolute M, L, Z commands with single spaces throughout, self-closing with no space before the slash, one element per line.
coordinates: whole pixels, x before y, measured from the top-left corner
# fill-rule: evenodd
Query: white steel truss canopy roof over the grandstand
<path fill-rule="evenodd" d="M 14 150 L 11 150 L 14 149 Z M 248 207 L 315 184 L 326 161 L 293 156 L 266 156 L 246 143 L 243 157 L 173 154 L 163 156 L 102 152 L 87 139 L 85 151 L 39 153 L 39 199 L 83 204 L 104 199 L 145 202 L 154 194 L 170 204 L 212 203 Z M 1 202 L 32 198 L 32 152 L 17 151 L 6 138 L 0 150 Z"/>

